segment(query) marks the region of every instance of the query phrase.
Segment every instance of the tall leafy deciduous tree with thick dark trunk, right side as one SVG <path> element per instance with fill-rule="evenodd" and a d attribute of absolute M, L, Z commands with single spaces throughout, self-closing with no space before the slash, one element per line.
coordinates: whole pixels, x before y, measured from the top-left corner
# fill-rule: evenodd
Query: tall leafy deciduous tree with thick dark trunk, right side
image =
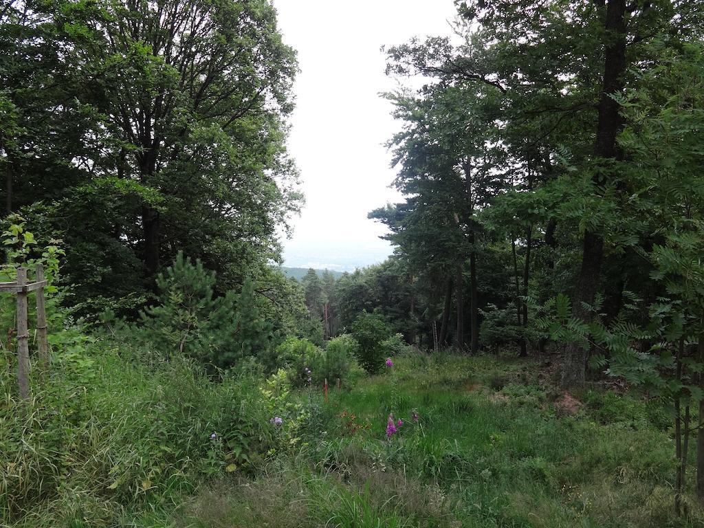
<path fill-rule="evenodd" d="M 493 153 L 491 171 L 502 173 L 518 193 L 510 196 L 517 207 L 503 223 L 522 228 L 509 234 L 524 248 L 517 281 L 519 320 L 528 320 L 521 298 L 529 295 L 532 249 L 555 248 L 558 232 L 568 237 L 564 249 L 570 251 L 557 256 L 573 274 L 572 284 L 563 289 L 573 296 L 574 316 L 588 322 L 602 289 L 609 295 L 610 313 L 617 313 L 623 284 L 637 280 L 643 268 L 634 266 L 615 281 L 617 286 L 602 287 L 604 259 L 612 263 L 631 236 L 617 227 L 624 218 L 615 214 L 630 190 L 620 177 L 617 96 L 637 86 L 657 61 L 658 51 L 649 46 L 654 37 L 664 35 L 662 45 L 677 48 L 698 32 L 696 6 L 672 0 L 477 0 L 460 1 L 458 7 L 463 44 L 432 38 L 396 46 L 389 50 L 389 70 L 432 77 L 439 89 L 474 87 L 474 93 L 494 101 L 496 111 L 487 114 L 494 127 L 479 146 Z M 476 127 L 467 135 L 474 132 Z M 537 191 L 543 198 L 534 198 Z M 494 203 L 502 200 L 498 196 Z M 540 210 L 532 205 L 536 202 Z M 564 225 L 560 231 L 558 223 Z M 575 256 L 577 238 L 581 248 Z M 555 268 L 555 254 L 547 264 Z M 587 355 L 577 342 L 567 346 L 565 386 L 584 381 Z"/>

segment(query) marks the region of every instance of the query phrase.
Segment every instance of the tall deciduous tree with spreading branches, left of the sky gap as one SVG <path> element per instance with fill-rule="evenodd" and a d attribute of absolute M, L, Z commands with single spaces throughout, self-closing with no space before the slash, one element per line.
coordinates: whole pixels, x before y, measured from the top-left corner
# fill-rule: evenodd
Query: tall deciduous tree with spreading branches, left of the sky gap
<path fill-rule="evenodd" d="M 162 253 L 190 249 L 189 235 L 199 230 L 219 234 L 220 250 L 237 253 L 230 237 L 268 249 L 287 213 L 276 178 L 291 169 L 281 120 L 291 110 L 296 68 L 270 4 L 102 7 L 104 16 L 87 22 L 92 46 L 77 51 L 89 77 L 87 97 L 105 116 L 99 144 L 106 156 L 92 169 L 114 170 L 166 197 L 161 210 L 142 208 L 147 275 Z"/>

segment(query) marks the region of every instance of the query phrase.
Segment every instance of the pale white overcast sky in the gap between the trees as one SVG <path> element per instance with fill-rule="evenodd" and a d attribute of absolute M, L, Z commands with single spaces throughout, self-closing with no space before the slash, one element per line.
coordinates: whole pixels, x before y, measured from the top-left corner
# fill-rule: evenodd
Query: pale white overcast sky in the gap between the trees
<path fill-rule="evenodd" d="M 400 201 L 384 144 L 400 129 L 382 45 L 451 34 L 453 0 L 274 0 L 284 42 L 298 52 L 289 151 L 306 206 L 284 239 L 284 265 L 351 271 L 392 253 L 370 210 Z"/>

